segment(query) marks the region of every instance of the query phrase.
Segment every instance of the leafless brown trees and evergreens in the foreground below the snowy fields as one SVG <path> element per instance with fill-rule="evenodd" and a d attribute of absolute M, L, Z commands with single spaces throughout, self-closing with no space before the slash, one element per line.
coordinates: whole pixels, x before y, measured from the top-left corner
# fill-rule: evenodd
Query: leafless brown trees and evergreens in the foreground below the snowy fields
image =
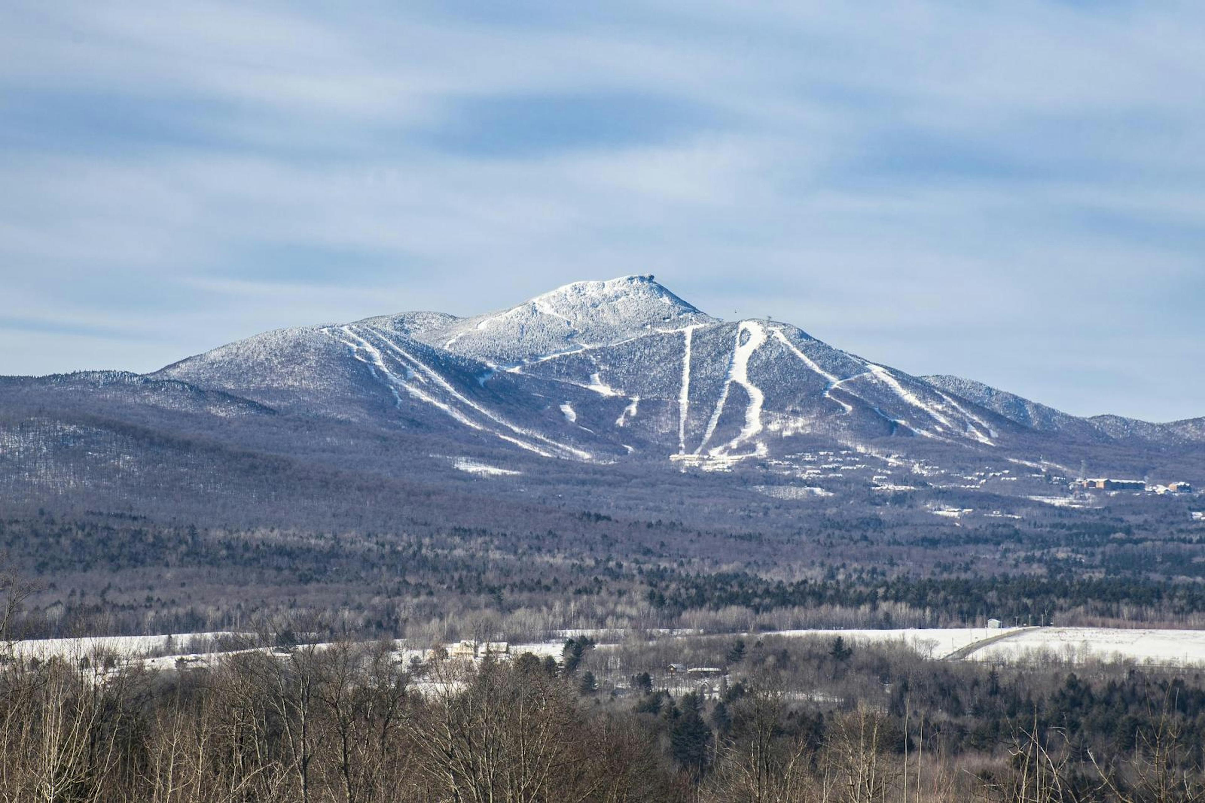
<path fill-rule="evenodd" d="M 1199 679 L 944 669 L 840 640 L 728 648 L 730 684 L 600 685 L 560 661 L 392 643 L 152 672 L 0 663 L 0 799 L 116 803 L 1171 803 L 1205 796 Z M 948 666 L 948 665 L 947 665 Z M 798 685 L 828 677 L 827 693 Z M 835 692 L 835 693 L 834 693 Z"/>

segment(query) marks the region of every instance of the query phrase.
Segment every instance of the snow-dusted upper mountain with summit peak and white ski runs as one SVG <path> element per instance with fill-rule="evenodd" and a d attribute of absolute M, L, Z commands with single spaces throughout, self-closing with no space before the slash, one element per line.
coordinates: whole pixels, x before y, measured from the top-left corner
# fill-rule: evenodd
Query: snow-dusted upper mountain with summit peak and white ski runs
<path fill-rule="evenodd" d="M 715 319 L 643 276 L 570 284 L 477 318 L 402 313 L 268 332 L 157 376 L 577 460 L 640 453 L 724 467 L 799 435 L 991 448 L 1016 429 L 797 327 Z"/>

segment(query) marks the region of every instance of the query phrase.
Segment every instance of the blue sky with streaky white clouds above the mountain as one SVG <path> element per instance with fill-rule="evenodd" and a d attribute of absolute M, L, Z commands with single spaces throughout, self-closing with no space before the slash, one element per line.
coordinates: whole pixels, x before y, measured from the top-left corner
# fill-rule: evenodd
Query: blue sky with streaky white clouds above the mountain
<path fill-rule="evenodd" d="M 0 374 L 653 273 L 1205 415 L 1205 4 L 0 4 Z"/>

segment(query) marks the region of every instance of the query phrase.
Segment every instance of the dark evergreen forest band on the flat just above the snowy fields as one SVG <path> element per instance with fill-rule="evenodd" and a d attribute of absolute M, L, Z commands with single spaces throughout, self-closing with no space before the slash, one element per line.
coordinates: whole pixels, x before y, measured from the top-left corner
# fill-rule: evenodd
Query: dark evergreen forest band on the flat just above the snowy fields
<path fill-rule="evenodd" d="M 604 522 L 605 524 L 605 522 Z M 688 536 L 681 536 L 687 538 Z M 0 522 L 0 553 L 40 590 L 24 637 L 241 630 L 249 619 L 339 610 L 330 633 L 455 638 L 471 612 L 502 636 L 560 628 L 752 632 L 828 627 L 1205 625 L 1205 586 L 1142 575 L 888 574 L 781 580 L 590 551 L 572 538 L 482 529 L 439 536 L 213 532 L 130 518 Z M 0 561 L 2 562 L 2 561 Z"/>

